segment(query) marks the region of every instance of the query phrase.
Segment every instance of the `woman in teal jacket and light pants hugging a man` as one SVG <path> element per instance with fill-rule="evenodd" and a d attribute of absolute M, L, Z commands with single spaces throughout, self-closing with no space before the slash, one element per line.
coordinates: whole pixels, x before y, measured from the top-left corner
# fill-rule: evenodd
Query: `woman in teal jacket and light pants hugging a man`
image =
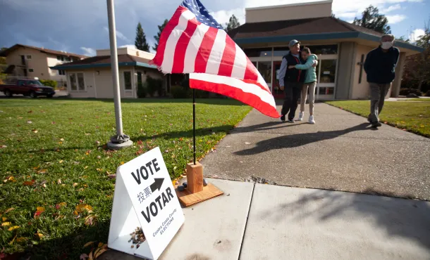
<path fill-rule="evenodd" d="M 315 124 L 314 120 L 314 103 L 315 103 L 315 86 L 317 86 L 317 72 L 316 67 L 312 67 L 314 63 L 318 63 L 318 57 L 315 54 L 312 54 L 309 48 L 303 48 L 302 50 L 302 59 L 306 60 L 305 64 L 297 64 L 291 65 L 289 69 L 297 69 L 297 70 L 307 70 L 305 83 L 302 87 L 302 98 L 300 98 L 300 113 L 299 113 L 299 121 L 303 120 L 303 115 L 305 115 L 305 104 L 306 104 L 306 96 L 307 90 L 309 89 L 309 123 Z"/>

